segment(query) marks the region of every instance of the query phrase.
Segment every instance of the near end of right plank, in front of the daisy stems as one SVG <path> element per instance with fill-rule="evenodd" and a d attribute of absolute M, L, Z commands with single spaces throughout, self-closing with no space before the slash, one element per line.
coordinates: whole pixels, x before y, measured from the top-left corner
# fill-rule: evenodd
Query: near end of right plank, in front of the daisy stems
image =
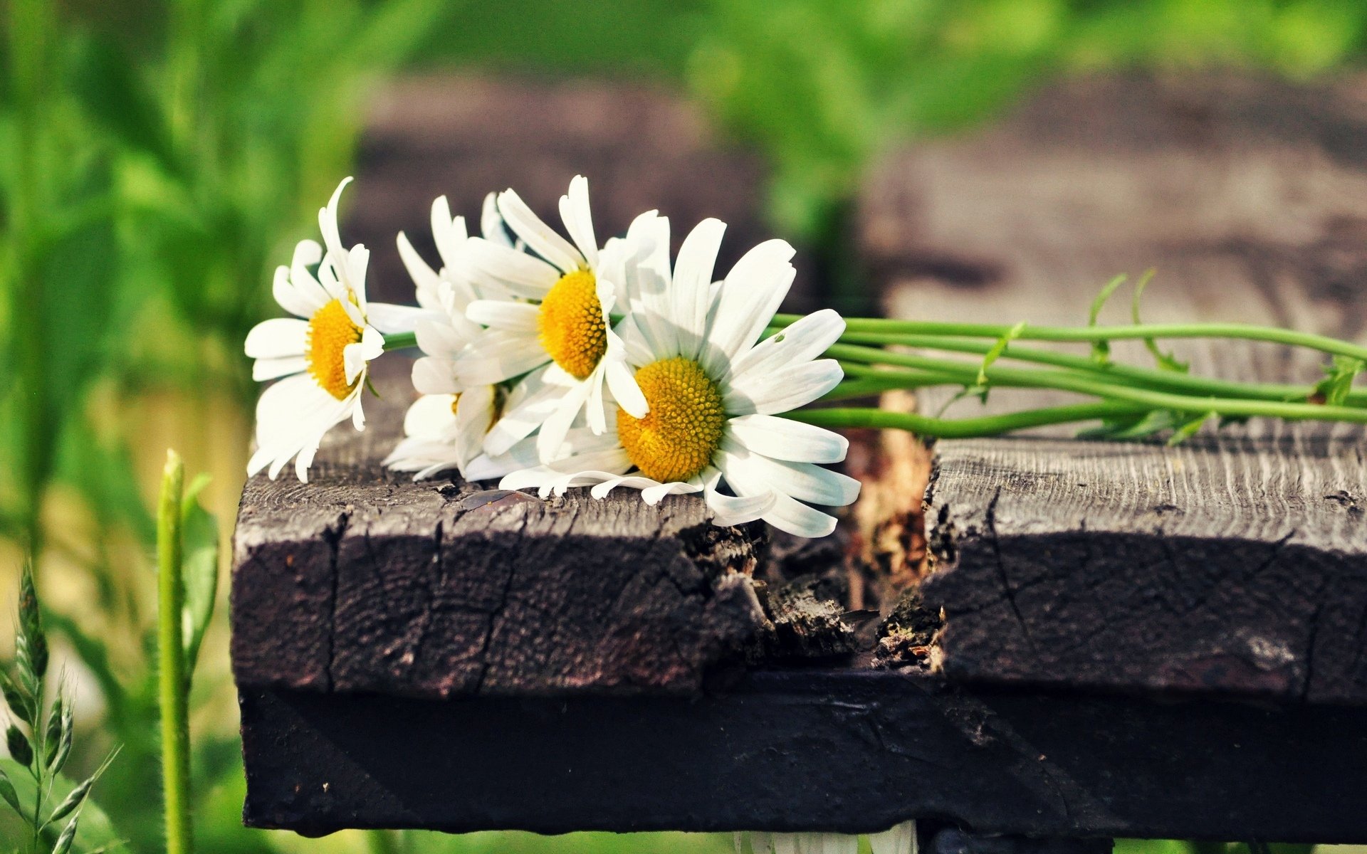
<path fill-rule="evenodd" d="M 1367 702 L 1367 443 L 957 441 L 930 495 L 951 679 Z"/>

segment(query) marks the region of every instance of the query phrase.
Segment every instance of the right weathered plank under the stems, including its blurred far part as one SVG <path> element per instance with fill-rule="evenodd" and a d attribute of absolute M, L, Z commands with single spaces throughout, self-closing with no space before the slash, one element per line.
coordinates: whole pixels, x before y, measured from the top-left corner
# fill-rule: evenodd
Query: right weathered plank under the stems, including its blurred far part
<path fill-rule="evenodd" d="M 890 313 L 1077 324 L 1103 281 L 1154 266 L 1146 320 L 1364 340 L 1364 105 L 1360 79 L 1048 90 L 874 184 Z M 1103 317 L 1125 322 L 1128 295 L 1114 302 Z M 1319 376 L 1277 347 L 1173 350 L 1204 374 Z M 1137 343 L 1117 354 L 1148 363 Z M 988 409 L 1065 400 L 998 389 Z M 1074 429 L 936 445 L 924 594 L 946 614 L 946 676 L 1367 702 L 1367 433 L 1254 421 L 1166 448 Z"/>

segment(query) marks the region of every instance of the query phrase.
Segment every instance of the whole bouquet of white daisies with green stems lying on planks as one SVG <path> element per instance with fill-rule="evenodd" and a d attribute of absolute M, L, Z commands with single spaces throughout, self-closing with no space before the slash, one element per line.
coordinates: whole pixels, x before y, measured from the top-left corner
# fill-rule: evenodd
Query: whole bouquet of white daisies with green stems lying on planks
<path fill-rule="evenodd" d="M 830 428 L 909 429 L 982 436 L 1044 424 L 1099 422 L 1092 435 L 1181 440 L 1210 419 L 1255 415 L 1367 422 L 1367 394 L 1352 388 L 1367 348 L 1322 336 L 1234 324 L 1096 325 L 1113 280 L 1077 328 L 858 318 L 834 310 L 776 314 L 793 283 L 793 247 L 774 239 L 718 276 L 726 225 L 708 219 L 670 253 L 670 221 L 655 210 L 599 242 L 588 182 L 560 197 L 565 234 L 513 190 L 491 194 L 480 234 L 432 204 L 433 269 L 398 235 L 417 306 L 366 299 L 369 253 L 338 231 L 343 180 L 319 212 L 323 245 L 302 240 L 275 273 L 276 302 L 293 318 L 267 320 L 246 339 L 253 377 L 275 380 L 257 404 L 257 450 L 247 473 L 276 477 L 293 459 L 301 481 L 323 436 L 350 419 L 365 426 L 372 361 L 418 347 L 418 399 L 406 437 L 385 465 L 416 478 L 455 471 L 470 481 L 545 497 L 586 486 L 601 499 L 640 491 L 649 504 L 701 493 L 718 525 L 763 519 L 822 537 L 858 481 L 826 466 L 848 441 Z M 567 235 L 567 236 L 566 236 Z M 1331 357 L 1312 387 L 1191 376 L 1154 343 L 1162 338 L 1241 338 L 1311 347 Z M 1144 340 L 1154 368 L 1117 363 L 1109 343 Z M 1079 342 L 1089 355 L 1023 347 Z M 932 354 L 927 354 L 927 353 Z M 935 355 L 966 354 L 968 358 Z M 1009 366 L 1003 362 L 1021 362 Z M 991 384 L 1081 395 L 1069 406 L 946 419 L 878 409 L 802 409 L 884 389 Z"/>

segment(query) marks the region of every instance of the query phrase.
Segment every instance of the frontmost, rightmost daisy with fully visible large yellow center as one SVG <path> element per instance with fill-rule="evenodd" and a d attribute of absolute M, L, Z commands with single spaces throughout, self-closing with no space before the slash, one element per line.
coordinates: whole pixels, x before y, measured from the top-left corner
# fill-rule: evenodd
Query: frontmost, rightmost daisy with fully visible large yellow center
<path fill-rule="evenodd" d="M 648 413 L 617 409 L 601 435 L 570 437 L 567 458 L 509 474 L 500 486 L 536 486 L 543 497 L 592 486 L 599 499 L 626 486 L 648 504 L 701 492 L 716 525 L 764 519 L 801 537 L 831 533 L 835 518 L 811 504 L 858 496 L 858 481 L 820 466 L 845 459 L 848 441 L 779 413 L 841 381 L 839 365 L 817 357 L 845 321 L 823 310 L 761 342 L 793 283 L 791 246 L 756 246 L 714 286 L 720 221 L 689 234 L 673 275 L 662 262 L 667 220 L 644 215 L 633 230 L 645 234 L 630 242 L 640 257 L 627 266 L 630 312 L 618 329 Z"/>

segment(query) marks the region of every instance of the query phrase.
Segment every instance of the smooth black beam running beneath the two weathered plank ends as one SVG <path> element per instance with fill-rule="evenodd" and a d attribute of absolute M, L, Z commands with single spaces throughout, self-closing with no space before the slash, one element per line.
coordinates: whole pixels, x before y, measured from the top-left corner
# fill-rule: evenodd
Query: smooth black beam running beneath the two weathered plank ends
<path fill-rule="evenodd" d="M 1367 842 L 1367 709 L 768 671 L 696 701 L 246 690 L 245 817 L 350 827 Z"/>

